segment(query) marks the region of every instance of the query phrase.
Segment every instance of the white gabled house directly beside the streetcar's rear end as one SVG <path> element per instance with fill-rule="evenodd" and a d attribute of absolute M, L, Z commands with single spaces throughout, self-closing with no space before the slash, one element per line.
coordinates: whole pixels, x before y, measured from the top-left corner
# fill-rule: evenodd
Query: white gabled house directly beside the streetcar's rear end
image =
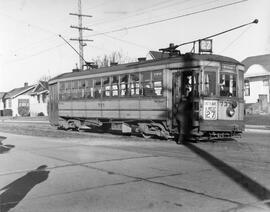
<path fill-rule="evenodd" d="M 49 84 L 46 81 L 39 81 L 30 93 L 30 116 L 47 116 L 47 103 L 49 97 Z"/>

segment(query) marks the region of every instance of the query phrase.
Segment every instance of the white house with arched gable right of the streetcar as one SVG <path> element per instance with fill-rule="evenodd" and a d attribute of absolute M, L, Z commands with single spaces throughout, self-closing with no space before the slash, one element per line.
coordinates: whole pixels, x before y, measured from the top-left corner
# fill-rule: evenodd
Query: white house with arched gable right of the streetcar
<path fill-rule="evenodd" d="M 242 63 L 246 112 L 270 113 L 270 54 L 248 57 Z"/>

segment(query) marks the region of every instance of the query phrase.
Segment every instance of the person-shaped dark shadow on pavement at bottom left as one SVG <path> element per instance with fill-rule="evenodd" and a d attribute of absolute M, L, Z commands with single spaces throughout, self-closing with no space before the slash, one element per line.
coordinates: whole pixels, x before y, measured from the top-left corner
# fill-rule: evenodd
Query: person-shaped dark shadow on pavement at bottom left
<path fill-rule="evenodd" d="M 42 165 L 1 188 L 0 191 L 5 191 L 0 195 L 0 211 L 7 212 L 14 208 L 35 185 L 45 181 L 49 176 L 46 168 Z"/>

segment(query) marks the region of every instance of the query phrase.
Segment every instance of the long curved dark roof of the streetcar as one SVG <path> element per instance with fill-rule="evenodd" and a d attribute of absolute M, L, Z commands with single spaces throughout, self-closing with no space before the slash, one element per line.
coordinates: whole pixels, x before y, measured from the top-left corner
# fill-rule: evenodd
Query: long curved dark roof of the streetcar
<path fill-rule="evenodd" d="M 132 63 L 125 63 L 125 64 L 118 64 L 109 67 L 101 67 L 95 69 L 87 69 L 78 72 L 67 72 L 60 74 L 50 81 L 65 79 L 70 77 L 78 77 L 84 75 L 92 75 L 98 73 L 106 73 L 106 72 L 115 72 L 115 71 L 123 71 L 132 68 L 143 68 L 147 66 L 157 66 L 157 65 L 165 65 L 168 63 L 177 63 L 177 62 L 190 62 L 190 61 L 216 61 L 216 62 L 224 62 L 224 63 L 233 63 L 235 65 L 243 65 L 239 61 L 221 55 L 215 54 L 182 54 L 179 56 L 169 57 L 169 58 L 159 58 L 159 59 L 152 59 L 152 60 L 145 60 L 140 62 L 132 62 Z"/>

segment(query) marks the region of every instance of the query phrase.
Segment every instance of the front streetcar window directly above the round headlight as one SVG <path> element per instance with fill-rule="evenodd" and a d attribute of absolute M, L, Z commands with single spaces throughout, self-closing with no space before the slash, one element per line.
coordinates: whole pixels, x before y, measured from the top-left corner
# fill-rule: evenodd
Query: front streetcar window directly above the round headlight
<path fill-rule="evenodd" d="M 236 96 L 236 74 L 220 74 L 220 96 Z"/>

